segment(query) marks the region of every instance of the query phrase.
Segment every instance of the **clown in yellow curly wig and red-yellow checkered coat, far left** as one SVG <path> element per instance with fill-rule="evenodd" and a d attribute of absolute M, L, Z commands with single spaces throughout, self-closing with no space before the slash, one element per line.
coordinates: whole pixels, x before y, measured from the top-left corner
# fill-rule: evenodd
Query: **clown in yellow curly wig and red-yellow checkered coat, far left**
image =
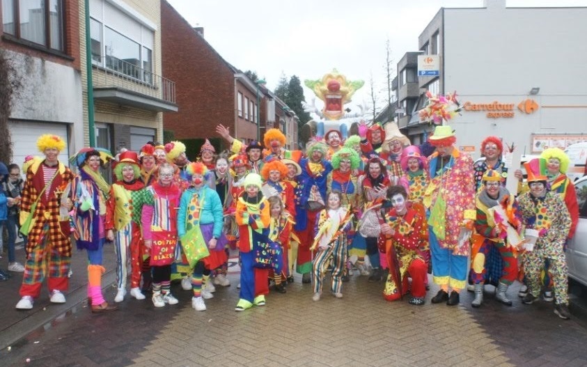
<path fill-rule="evenodd" d="M 33 300 L 39 297 L 45 278 L 52 303 L 65 303 L 63 292 L 69 287 L 70 223 L 69 216 L 61 220 L 60 210 L 63 207 L 69 212 L 72 208 L 72 202 L 61 194 L 74 175 L 58 160 L 59 152 L 65 148 L 61 136 L 41 135 L 37 148 L 45 159 L 34 161 L 26 171 L 20 203 L 20 224 L 25 224 L 29 215 L 33 218 L 26 243 L 27 256 L 20 287 L 22 298 L 16 305 L 21 310 L 33 308 Z"/>

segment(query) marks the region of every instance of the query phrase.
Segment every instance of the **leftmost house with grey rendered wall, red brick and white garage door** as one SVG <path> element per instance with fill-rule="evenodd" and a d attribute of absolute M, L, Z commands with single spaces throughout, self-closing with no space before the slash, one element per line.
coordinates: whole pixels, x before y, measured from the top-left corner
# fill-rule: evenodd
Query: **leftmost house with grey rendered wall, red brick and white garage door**
<path fill-rule="evenodd" d="M 0 52 L 21 84 L 8 120 L 13 162 L 38 155 L 43 133 L 63 137 L 67 146 L 59 159 L 67 162 L 84 140 L 79 2 L 2 0 L 0 13 Z"/>

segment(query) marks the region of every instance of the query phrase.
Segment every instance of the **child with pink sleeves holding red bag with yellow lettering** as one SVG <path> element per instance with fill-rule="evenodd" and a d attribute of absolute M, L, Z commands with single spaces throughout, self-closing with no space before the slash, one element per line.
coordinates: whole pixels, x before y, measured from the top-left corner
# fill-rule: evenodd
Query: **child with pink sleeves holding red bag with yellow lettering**
<path fill-rule="evenodd" d="M 155 307 L 178 304 L 171 294 L 171 263 L 175 260 L 178 243 L 177 208 L 180 188 L 173 182 L 174 168 L 169 163 L 159 166 L 156 182 L 146 188 L 145 205 L 141 216 L 143 239 L 152 266 L 152 302 Z M 164 242 L 153 246 L 153 242 Z M 161 259 L 161 260 L 157 260 Z"/>

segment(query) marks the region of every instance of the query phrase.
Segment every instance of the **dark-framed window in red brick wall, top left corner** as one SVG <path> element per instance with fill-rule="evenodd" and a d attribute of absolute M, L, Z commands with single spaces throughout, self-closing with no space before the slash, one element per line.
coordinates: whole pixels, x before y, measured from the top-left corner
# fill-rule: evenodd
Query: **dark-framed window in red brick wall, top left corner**
<path fill-rule="evenodd" d="M 63 51 L 63 0 L 2 0 L 4 33 Z"/>

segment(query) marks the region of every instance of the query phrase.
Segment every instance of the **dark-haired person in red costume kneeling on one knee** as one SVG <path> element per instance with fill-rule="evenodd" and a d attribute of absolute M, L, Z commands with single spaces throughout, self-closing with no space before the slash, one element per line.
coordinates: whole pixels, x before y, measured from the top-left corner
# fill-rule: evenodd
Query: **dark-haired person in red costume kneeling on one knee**
<path fill-rule="evenodd" d="M 387 197 L 393 208 L 384 214 L 381 226 L 385 240 L 385 254 L 389 263 L 389 275 L 385 282 L 383 297 L 395 301 L 407 292 L 408 274 L 412 278 L 412 297 L 409 304 L 420 306 L 426 297 L 428 265 L 425 251 L 428 242 L 423 237 L 424 214 L 413 208 L 407 200 L 405 187 L 391 186 Z"/>

